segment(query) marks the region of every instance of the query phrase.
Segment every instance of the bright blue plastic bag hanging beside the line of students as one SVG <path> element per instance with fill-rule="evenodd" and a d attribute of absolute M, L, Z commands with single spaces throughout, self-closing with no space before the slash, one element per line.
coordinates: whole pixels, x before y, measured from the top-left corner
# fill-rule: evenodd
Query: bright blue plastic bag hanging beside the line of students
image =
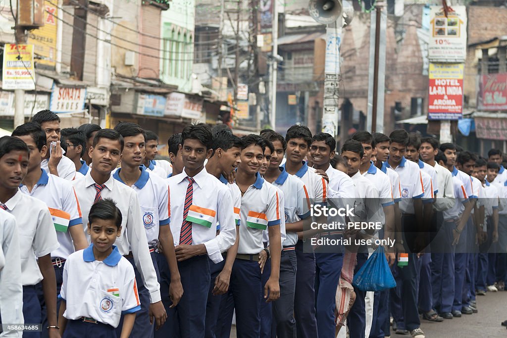
<path fill-rule="evenodd" d="M 373 252 L 354 275 L 352 284 L 363 291 L 382 291 L 396 286 L 382 246 Z"/>

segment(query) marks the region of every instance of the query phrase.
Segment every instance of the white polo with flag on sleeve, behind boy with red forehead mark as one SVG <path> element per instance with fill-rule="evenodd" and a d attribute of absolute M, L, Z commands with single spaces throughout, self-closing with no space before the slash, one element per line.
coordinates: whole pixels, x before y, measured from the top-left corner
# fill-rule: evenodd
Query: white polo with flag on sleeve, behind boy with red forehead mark
<path fill-rule="evenodd" d="M 31 192 L 28 191 L 28 188 L 24 184 L 19 187 L 19 190 L 23 194 L 46 203 L 48 207 L 53 209 L 50 210 L 53 217 L 59 216 L 58 210 L 68 213 L 70 216 L 68 228 L 82 224 L 81 207 L 72 183 L 61 177 L 48 174 L 44 169 L 41 169 L 41 171 L 41 178 L 33 186 Z M 66 259 L 69 254 L 74 252 L 74 242 L 68 228 L 55 227 L 56 238 L 58 239 L 58 243 L 60 243 L 60 247 L 51 252 L 51 258 L 60 257 Z"/>

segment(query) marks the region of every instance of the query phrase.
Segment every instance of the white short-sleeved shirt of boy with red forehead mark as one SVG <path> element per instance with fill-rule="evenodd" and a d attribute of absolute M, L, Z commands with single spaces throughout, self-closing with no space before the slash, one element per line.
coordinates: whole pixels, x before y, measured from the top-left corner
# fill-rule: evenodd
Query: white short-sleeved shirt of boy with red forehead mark
<path fill-rule="evenodd" d="M 42 281 L 37 258 L 50 254 L 60 246 L 53 219 L 44 202 L 19 190 L 5 205 L 7 211 L 16 218 L 21 254 L 21 281 L 23 286 L 35 285 Z"/>

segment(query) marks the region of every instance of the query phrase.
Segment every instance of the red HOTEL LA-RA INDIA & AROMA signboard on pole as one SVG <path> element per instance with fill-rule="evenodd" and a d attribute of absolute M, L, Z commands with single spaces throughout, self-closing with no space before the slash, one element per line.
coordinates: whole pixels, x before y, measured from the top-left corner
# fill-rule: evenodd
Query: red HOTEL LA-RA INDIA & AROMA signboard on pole
<path fill-rule="evenodd" d="M 445 120 L 461 119 L 463 112 L 462 79 L 429 79 L 428 119 Z"/>

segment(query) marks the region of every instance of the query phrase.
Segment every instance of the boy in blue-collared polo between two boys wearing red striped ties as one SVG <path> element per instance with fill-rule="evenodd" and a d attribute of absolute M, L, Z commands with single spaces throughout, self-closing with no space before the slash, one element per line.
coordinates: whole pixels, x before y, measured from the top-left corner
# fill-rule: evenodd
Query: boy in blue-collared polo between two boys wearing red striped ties
<path fill-rule="evenodd" d="M 166 257 L 171 274 L 171 283 L 168 294 L 165 295 L 167 306 L 176 306 L 182 297 L 183 289 L 179 278 L 176 255 L 174 253 L 174 243 L 169 228 L 170 206 L 169 189 L 167 182 L 156 175 L 149 173 L 141 163 L 146 149 L 146 134 L 137 124 L 131 122 L 121 122 L 115 126 L 115 130 L 123 137 L 124 147 L 122 151 L 122 167 L 118 168 L 113 177 L 132 189 L 137 194 L 141 208 L 142 223 L 146 231 L 148 246 L 152 258 L 153 266 L 157 273 L 157 279 L 160 281 L 159 267 L 157 264 L 157 249 L 159 243 L 162 247 L 163 255 Z M 134 264 L 133 257 L 127 257 Z M 167 263 L 168 262 L 168 263 Z M 140 276 L 137 276 L 140 278 Z M 141 300 L 141 311 L 137 313 L 136 321 L 130 336 L 151 337 L 153 336 L 153 324 L 150 323 L 149 294 L 141 286 L 139 287 L 139 296 Z M 165 306 L 165 305 L 164 305 Z M 167 310 L 166 310 L 167 311 Z"/>

